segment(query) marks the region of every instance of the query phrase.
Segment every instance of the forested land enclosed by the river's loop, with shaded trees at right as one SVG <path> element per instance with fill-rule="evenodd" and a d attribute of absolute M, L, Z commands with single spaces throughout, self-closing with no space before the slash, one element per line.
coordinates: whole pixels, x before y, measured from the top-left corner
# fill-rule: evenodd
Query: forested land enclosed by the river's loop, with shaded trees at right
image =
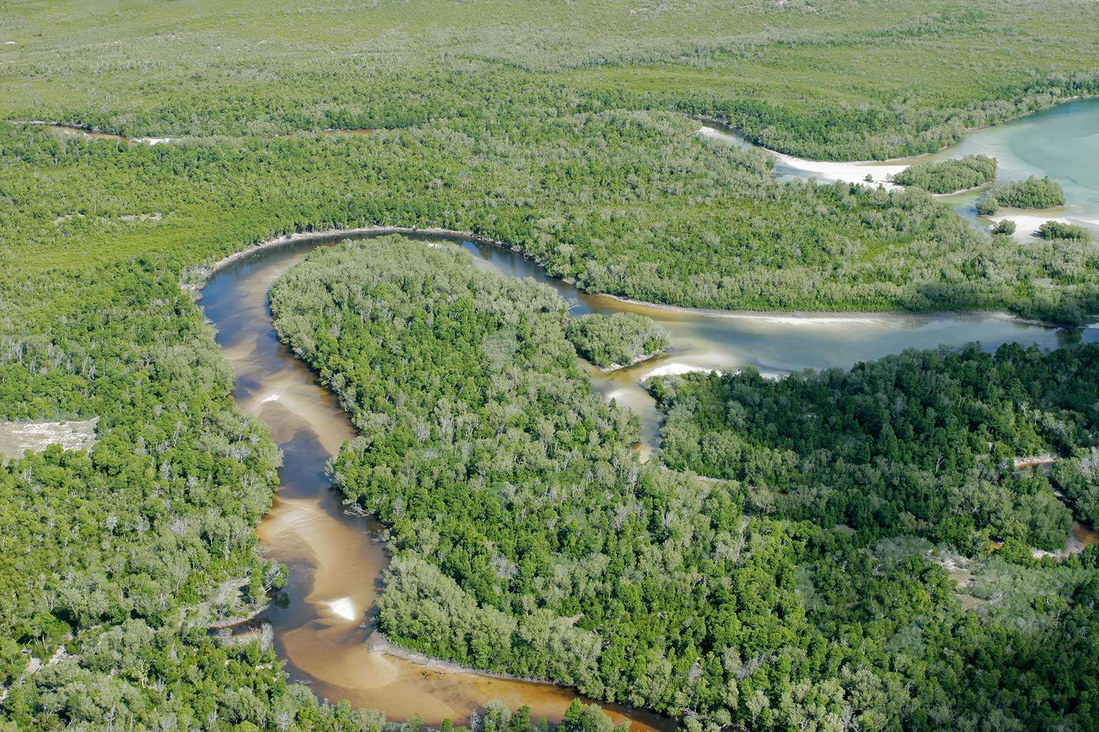
<path fill-rule="evenodd" d="M 1028 543 L 1063 542 L 1069 514 L 1048 484 L 999 463 L 1087 443 L 1099 348 L 660 381 L 662 456 L 697 419 L 700 454 L 751 466 L 701 481 L 639 463 L 631 420 L 576 367 L 564 302 L 463 253 L 346 243 L 285 275 L 271 308 L 362 431 L 333 470 L 389 528 L 379 609 L 392 640 L 696 725 L 979 727 L 991 709 L 1008 727 L 1096 721 L 1083 640 L 1097 630 L 1092 550 L 1025 622 L 991 603 L 978 620 L 945 559 L 900 536 L 977 555 L 995 532 L 1019 567 L 1032 565 Z M 729 404 L 730 386 L 746 401 Z M 690 408 L 696 387 L 714 390 L 712 409 Z M 739 443 L 711 432 L 725 419 Z M 724 478 L 725 465 L 699 467 Z M 832 531 L 840 519 L 854 535 Z M 1015 696 L 1020 684 L 1043 692 Z"/>

